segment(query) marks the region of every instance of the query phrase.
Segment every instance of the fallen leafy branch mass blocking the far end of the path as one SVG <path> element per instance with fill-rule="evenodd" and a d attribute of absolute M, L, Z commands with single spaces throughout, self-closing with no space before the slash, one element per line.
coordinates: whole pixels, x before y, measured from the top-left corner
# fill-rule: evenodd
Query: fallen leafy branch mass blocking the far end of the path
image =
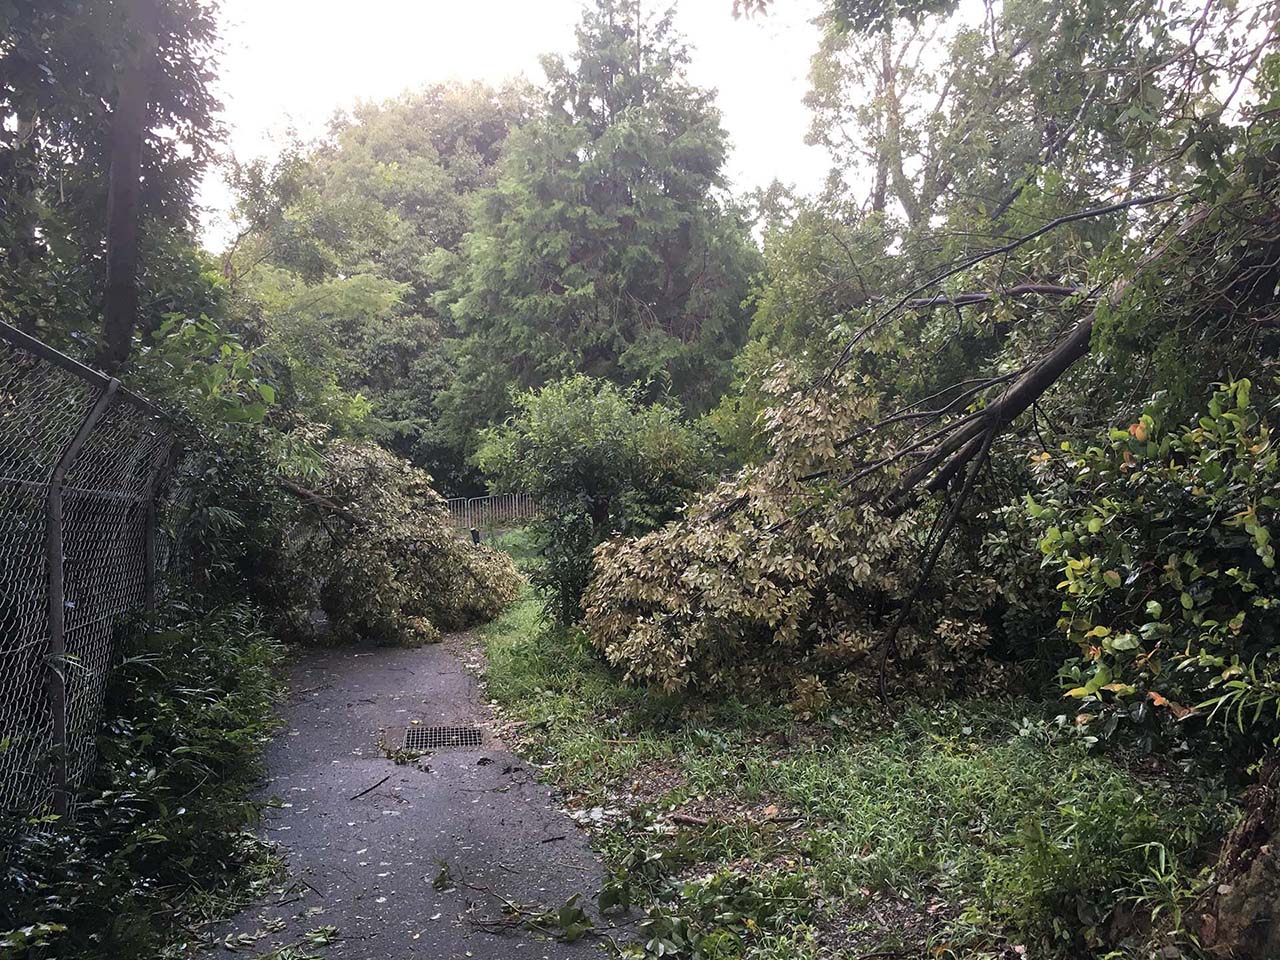
<path fill-rule="evenodd" d="M 307 497 L 319 518 L 294 531 L 278 591 L 300 630 L 323 608 L 337 641 L 431 643 L 516 599 L 511 557 L 458 536 L 426 471 L 372 443 L 329 443 Z"/>

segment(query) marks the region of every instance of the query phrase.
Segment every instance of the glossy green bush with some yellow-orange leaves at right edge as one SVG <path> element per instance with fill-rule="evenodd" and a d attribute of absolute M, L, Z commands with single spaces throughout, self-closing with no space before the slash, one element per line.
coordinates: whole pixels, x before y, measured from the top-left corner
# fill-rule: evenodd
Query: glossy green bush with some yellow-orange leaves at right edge
<path fill-rule="evenodd" d="M 1068 695 L 1110 728 L 1216 718 L 1253 750 L 1280 733 L 1280 462 L 1249 388 L 1222 387 L 1196 424 L 1148 412 L 1042 457 L 1028 508 L 1082 654 Z"/>

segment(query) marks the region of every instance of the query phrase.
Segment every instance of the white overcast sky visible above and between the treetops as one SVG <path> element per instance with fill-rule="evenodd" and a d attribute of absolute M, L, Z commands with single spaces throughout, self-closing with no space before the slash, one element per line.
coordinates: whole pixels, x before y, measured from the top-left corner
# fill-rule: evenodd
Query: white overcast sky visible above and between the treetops
<path fill-rule="evenodd" d="M 778 178 L 817 191 L 828 160 L 805 146 L 801 99 L 819 0 L 786 0 L 750 20 L 733 19 L 732 0 L 675 6 L 694 81 L 719 92 L 735 188 Z M 439 81 L 524 74 L 540 82 L 538 58 L 572 50 L 580 10 L 580 0 L 223 0 L 219 88 L 229 147 L 241 159 L 271 155 L 291 127 L 317 136 L 357 100 Z M 221 246 L 230 196 L 220 175 L 209 178 L 201 198 L 206 241 Z"/>

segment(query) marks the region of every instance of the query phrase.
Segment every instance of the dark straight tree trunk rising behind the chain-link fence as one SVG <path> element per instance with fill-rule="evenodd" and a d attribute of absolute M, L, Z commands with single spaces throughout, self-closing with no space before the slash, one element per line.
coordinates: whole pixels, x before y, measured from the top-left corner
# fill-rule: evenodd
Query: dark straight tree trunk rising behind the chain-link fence
<path fill-rule="evenodd" d="M 114 372 L 129 356 L 138 319 L 138 220 L 142 141 L 155 68 L 159 0 L 129 0 L 128 36 L 116 65 L 111 172 L 106 195 L 106 294 L 97 364 Z"/>

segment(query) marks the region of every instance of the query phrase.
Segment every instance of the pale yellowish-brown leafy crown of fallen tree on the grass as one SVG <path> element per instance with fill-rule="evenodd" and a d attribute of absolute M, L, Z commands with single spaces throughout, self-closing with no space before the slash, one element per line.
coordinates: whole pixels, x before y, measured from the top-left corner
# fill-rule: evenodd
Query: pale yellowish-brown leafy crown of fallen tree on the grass
<path fill-rule="evenodd" d="M 929 517 L 888 517 L 865 490 L 840 481 L 850 463 L 837 438 L 876 416 L 869 384 L 855 374 L 828 390 L 791 380 L 778 367 L 768 385 L 777 398 L 764 415 L 773 458 L 722 481 L 666 526 L 596 549 L 584 603 L 591 641 L 628 678 L 664 690 L 781 682 L 813 700 L 822 692 L 814 678 L 863 686 L 882 658 L 914 686 L 951 686 L 984 659 L 995 582 L 948 547 L 934 573 L 943 589 L 913 607 L 886 652 Z M 878 483 L 891 480 L 882 474 Z"/>

